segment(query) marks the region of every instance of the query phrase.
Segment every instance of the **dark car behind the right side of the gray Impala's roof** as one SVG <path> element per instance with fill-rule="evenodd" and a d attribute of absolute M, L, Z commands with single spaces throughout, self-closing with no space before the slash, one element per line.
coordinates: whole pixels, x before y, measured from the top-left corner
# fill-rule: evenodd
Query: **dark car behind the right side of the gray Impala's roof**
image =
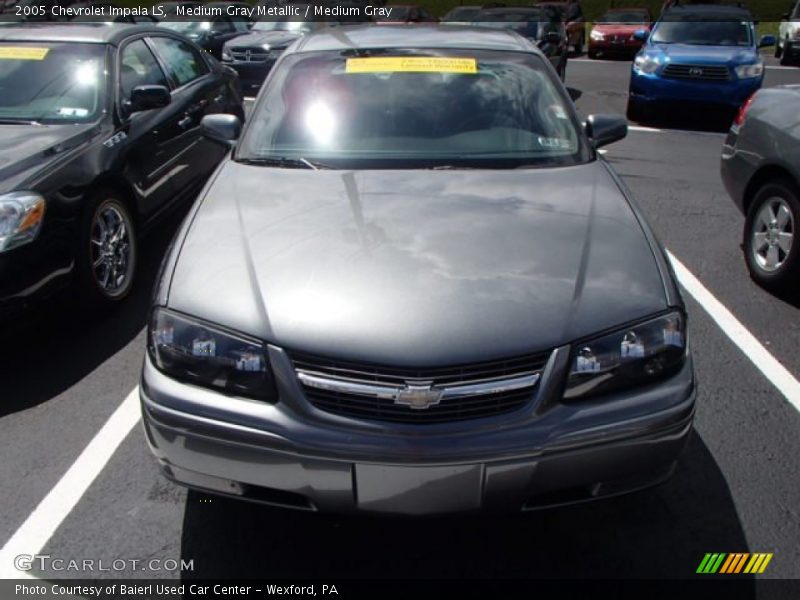
<path fill-rule="evenodd" d="M 550 60 L 553 68 L 564 81 L 567 73 L 567 32 L 564 22 L 549 7 L 509 7 L 482 10 L 473 25 L 509 29 L 529 39 Z"/>

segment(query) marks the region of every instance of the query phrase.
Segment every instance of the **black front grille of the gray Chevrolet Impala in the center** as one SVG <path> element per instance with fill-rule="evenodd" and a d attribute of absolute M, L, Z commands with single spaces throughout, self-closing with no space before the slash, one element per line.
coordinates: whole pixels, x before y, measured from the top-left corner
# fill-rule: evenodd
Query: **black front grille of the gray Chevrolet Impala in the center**
<path fill-rule="evenodd" d="M 330 360 L 292 353 L 297 371 L 358 384 L 404 386 L 432 384 L 442 388 L 475 383 L 502 382 L 540 373 L 549 353 L 518 356 L 507 360 L 433 369 L 387 367 L 369 363 Z M 302 385 L 302 384 L 301 384 Z M 308 400 L 320 410 L 356 419 L 394 423 L 433 424 L 491 417 L 523 407 L 533 399 L 536 385 L 525 389 L 491 392 L 464 398 L 444 398 L 425 409 L 378 398 L 303 385 Z"/>

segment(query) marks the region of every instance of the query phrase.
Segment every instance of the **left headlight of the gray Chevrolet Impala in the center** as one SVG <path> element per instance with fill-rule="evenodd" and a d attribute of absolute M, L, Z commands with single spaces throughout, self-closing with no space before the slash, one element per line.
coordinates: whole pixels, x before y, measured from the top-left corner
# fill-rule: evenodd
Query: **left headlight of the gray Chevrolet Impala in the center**
<path fill-rule="evenodd" d="M 277 392 L 264 345 L 157 308 L 148 332 L 156 367 L 181 381 L 274 402 Z"/>

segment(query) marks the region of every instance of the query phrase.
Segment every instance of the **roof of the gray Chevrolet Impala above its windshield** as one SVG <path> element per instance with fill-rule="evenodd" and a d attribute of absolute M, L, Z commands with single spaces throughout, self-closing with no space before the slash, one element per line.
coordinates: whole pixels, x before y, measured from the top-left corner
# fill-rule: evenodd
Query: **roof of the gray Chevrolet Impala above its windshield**
<path fill-rule="evenodd" d="M 458 25 L 398 25 L 372 27 L 353 25 L 319 30 L 301 38 L 294 52 L 368 48 L 463 48 L 533 52 L 525 38 L 507 29 Z"/>

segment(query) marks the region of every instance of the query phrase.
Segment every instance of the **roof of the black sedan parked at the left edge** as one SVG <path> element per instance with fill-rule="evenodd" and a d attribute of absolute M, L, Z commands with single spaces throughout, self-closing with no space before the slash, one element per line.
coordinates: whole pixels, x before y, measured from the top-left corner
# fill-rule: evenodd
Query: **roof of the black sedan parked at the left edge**
<path fill-rule="evenodd" d="M 24 23 L 0 27 L 0 42 L 81 42 L 118 45 L 136 33 L 164 34 L 164 29 L 135 23 Z"/>

